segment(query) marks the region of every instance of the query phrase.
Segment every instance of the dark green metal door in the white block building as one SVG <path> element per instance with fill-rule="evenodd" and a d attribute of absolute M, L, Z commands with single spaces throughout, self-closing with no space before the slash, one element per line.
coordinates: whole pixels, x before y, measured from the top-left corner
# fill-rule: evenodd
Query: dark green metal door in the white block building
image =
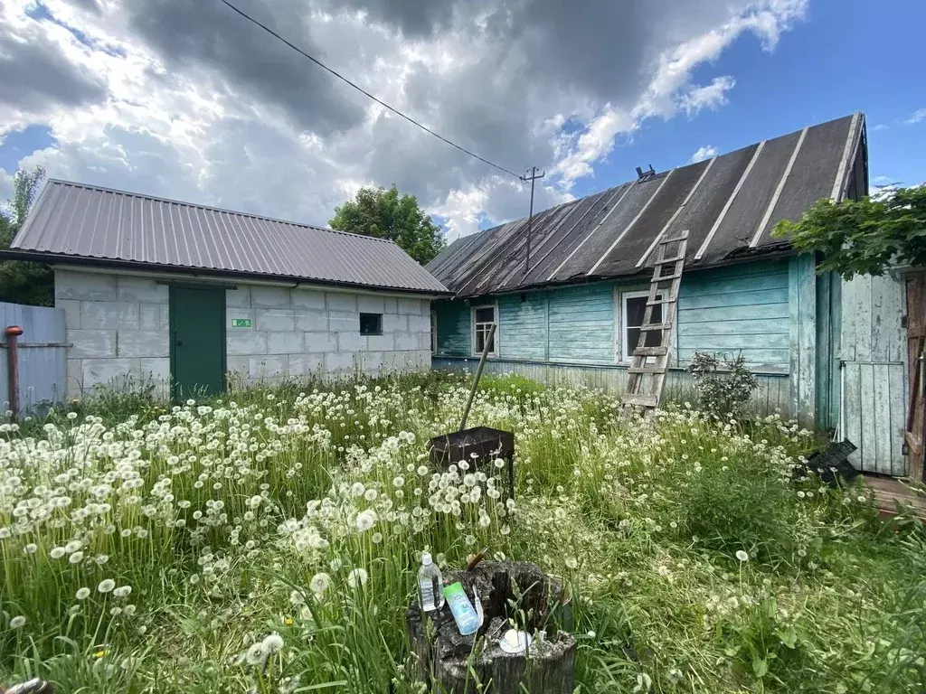
<path fill-rule="evenodd" d="M 225 390 L 225 290 L 170 287 L 170 377 L 175 400 Z"/>

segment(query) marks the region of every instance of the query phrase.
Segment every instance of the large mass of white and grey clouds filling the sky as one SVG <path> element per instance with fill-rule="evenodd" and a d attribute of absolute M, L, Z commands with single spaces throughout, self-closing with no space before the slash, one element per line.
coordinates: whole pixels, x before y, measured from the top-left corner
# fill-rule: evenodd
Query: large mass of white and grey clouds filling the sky
<path fill-rule="evenodd" d="M 245 6 L 432 129 L 518 173 L 545 167 L 569 187 L 594 176 L 645 118 L 723 105 L 733 78 L 694 84 L 695 68 L 746 32 L 770 50 L 806 2 L 647 2 L 634 12 L 607 0 Z M 11 65 L 20 87 L 0 85 L 0 139 L 40 124 L 55 140 L 20 166 L 322 224 L 360 185 L 395 182 L 444 217 L 451 238 L 527 212 L 517 180 L 333 81 L 219 3 L 44 6 L 56 22 L 33 19 L 23 3 L 0 5 L 0 56 L 16 59 L 7 46 L 32 51 Z M 0 191 L 8 178 L 0 172 Z M 540 181 L 535 208 L 567 199 Z"/>

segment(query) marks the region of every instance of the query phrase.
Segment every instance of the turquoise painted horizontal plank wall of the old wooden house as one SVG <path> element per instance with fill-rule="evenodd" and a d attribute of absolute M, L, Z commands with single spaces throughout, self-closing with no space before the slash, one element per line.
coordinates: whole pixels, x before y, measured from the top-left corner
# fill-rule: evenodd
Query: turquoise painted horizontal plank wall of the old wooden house
<path fill-rule="evenodd" d="M 641 287 L 646 285 L 599 282 L 496 297 L 491 301 L 498 304 L 499 358 L 613 366 L 615 290 Z M 794 321 L 789 301 L 787 259 L 687 273 L 675 338 L 679 366 L 695 350 L 742 350 L 757 371 L 788 373 Z M 437 302 L 433 307 L 438 356 L 471 356 L 469 304 Z"/>

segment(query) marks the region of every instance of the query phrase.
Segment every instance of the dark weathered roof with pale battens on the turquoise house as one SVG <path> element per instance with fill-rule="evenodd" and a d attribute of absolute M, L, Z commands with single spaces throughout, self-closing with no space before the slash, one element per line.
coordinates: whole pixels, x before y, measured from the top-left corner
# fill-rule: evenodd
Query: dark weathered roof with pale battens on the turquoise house
<path fill-rule="evenodd" d="M 457 239 L 427 267 L 468 297 L 638 275 L 657 240 L 683 229 L 686 268 L 781 253 L 788 245 L 772 227 L 845 196 L 865 146 L 860 113 L 808 126 L 534 215 L 526 274 L 526 217 Z"/>

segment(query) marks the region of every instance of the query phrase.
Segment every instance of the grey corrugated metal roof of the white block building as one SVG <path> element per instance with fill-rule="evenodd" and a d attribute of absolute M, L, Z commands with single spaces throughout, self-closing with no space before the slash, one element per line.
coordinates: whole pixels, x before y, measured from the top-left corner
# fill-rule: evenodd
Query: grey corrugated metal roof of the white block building
<path fill-rule="evenodd" d="M 447 291 L 391 241 L 64 180 L 48 181 L 10 248 L 48 262 Z"/>

